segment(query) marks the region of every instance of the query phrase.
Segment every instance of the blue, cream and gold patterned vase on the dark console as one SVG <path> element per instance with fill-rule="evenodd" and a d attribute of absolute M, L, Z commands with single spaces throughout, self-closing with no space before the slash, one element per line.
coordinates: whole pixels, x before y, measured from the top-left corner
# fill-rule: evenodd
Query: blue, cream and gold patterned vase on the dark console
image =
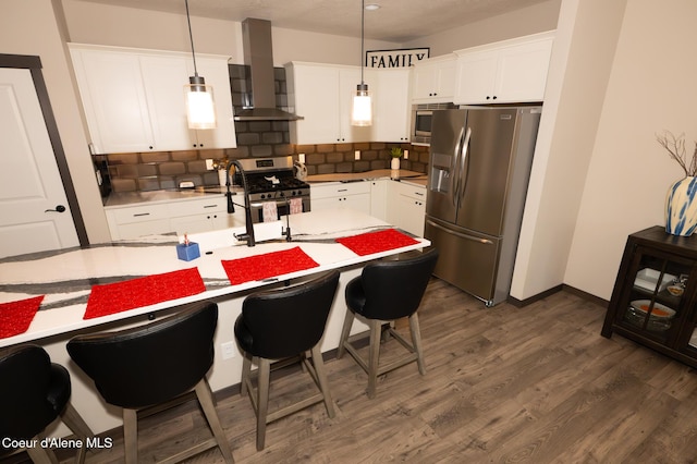
<path fill-rule="evenodd" d="M 697 178 L 675 182 L 665 197 L 665 232 L 689 236 L 697 229 Z"/>

